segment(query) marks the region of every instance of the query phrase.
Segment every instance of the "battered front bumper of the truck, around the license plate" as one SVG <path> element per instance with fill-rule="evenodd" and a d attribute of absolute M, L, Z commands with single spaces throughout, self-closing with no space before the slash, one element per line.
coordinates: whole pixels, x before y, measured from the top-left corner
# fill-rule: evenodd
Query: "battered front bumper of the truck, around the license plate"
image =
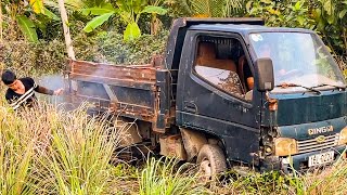
<path fill-rule="evenodd" d="M 279 156 L 269 156 L 260 161 L 260 170 L 269 171 L 269 170 L 282 170 L 285 173 L 293 172 L 293 169 L 296 171 L 305 171 L 309 169 L 314 169 L 317 167 L 308 167 L 309 156 L 334 151 L 334 161 L 335 162 L 340 157 L 346 157 L 346 145 L 336 146 L 330 150 L 323 150 L 319 152 L 311 152 L 305 154 L 298 154 L 287 157 L 279 157 Z M 343 156 L 342 156 L 343 155 Z M 332 162 L 330 162 L 332 164 Z M 330 165 L 325 164 L 325 165 Z M 322 166 L 325 166 L 322 165 Z"/>

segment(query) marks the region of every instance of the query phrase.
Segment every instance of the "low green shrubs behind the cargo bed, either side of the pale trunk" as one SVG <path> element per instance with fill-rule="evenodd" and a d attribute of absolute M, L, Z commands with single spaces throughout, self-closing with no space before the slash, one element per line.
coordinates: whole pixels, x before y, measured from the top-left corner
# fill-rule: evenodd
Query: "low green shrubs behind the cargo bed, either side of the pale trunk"
<path fill-rule="evenodd" d="M 121 34 L 100 32 L 87 37 L 81 32 L 74 39 L 77 60 L 116 64 L 146 64 L 153 54 L 164 53 L 168 31 L 157 36 L 144 35 L 133 42 L 124 42 Z M 65 43 L 61 40 L 7 41 L 0 47 L 0 68 L 13 68 L 18 75 L 41 75 L 65 69 Z"/>

